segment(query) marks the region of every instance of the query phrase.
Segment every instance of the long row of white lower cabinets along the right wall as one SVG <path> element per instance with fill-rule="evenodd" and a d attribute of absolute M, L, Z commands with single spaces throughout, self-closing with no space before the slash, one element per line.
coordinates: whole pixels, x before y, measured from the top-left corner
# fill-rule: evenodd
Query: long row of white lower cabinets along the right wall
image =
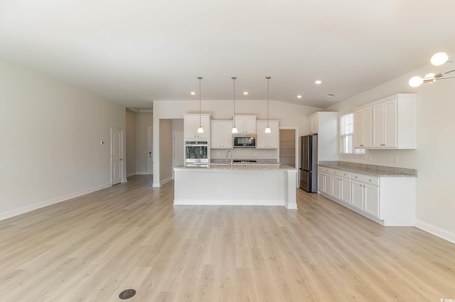
<path fill-rule="evenodd" d="M 378 177 L 320 166 L 318 182 L 319 193 L 382 225 L 415 225 L 415 177 Z"/>

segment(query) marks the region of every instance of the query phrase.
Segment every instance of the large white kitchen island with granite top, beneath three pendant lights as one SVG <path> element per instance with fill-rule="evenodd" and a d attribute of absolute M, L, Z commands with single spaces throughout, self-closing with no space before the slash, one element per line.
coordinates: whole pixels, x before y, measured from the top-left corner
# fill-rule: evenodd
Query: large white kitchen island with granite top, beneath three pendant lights
<path fill-rule="evenodd" d="M 215 164 L 174 169 L 174 205 L 274 205 L 296 209 L 296 168 Z"/>

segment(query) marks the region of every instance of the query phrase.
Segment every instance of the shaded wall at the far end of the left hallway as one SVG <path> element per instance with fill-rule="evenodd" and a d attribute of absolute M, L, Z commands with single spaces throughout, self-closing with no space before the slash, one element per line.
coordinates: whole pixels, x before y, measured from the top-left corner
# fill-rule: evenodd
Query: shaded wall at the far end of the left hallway
<path fill-rule="evenodd" d="M 136 172 L 149 174 L 149 126 L 153 125 L 151 113 L 136 114 Z"/>

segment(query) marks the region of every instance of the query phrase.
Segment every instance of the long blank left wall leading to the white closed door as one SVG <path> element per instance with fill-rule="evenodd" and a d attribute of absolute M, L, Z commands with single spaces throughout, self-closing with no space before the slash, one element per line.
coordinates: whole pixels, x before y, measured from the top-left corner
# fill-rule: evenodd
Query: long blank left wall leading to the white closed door
<path fill-rule="evenodd" d="M 0 108 L 0 219 L 110 185 L 124 107 L 0 60 Z"/>

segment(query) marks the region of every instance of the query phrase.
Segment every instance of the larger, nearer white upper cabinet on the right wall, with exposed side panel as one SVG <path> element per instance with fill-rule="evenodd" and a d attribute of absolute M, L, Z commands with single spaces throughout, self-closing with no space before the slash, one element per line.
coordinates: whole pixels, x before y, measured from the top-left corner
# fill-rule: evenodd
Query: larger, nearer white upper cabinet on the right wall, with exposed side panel
<path fill-rule="evenodd" d="M 416 149 L 414 93 L 393 95 L 372 104 L 374 149 Z"/>

